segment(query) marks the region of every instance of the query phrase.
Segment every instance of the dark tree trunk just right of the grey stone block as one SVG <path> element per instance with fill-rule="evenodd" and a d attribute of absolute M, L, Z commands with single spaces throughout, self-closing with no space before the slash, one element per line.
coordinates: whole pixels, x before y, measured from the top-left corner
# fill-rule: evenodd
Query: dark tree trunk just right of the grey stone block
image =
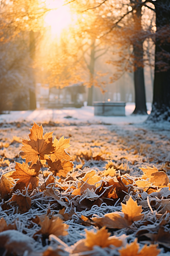
<path fill-rule="evenodd" d="M 141 1 L 141 0 L 140 0 Z M 134 29 L 139 34 L 141 27 L 141 6 L 138 7 L 134 14 Z M 133 114 L 147 114 L 146 95 L 145 95 L 145 79 L 143 71 L 143 41 L 137 36 L 133 43 L 134 53 L 134 89 L 135 89 L 135 110 Z"/>

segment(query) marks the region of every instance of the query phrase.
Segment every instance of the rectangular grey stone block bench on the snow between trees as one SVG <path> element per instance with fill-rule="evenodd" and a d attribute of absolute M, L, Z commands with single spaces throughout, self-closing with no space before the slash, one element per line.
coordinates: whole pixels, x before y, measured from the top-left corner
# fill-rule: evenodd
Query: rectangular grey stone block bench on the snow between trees
<path fill-rule="evenodd" d="M 124 116 L 125 102 L 95 101 L 95 115 Z"/>

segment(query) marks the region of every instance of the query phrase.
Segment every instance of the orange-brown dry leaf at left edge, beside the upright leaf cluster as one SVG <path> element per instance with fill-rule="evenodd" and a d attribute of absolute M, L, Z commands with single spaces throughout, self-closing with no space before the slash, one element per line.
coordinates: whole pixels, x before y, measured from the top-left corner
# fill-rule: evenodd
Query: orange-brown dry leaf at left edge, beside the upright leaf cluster
<path fill-rule="evenodd" d="M 12 188 L 14 187 L 14 180 L 10 177 L 15 171 L 4 172 L 0 179 L 0 193 L 1 199 L 7 201 L 10 197 Z"/>

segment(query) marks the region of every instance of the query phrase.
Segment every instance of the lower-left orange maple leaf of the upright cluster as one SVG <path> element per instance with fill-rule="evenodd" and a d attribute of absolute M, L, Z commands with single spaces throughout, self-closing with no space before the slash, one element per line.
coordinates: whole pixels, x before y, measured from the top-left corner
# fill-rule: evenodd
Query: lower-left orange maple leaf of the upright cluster
<path fill-rule="evenodd" d="M 33 164 L 29 166 L 27 163 L 15 163 L 15 171 L 12 172 L 11 176 L 13 179 L 18 179 L 15 185 L 15 190 L 19 189 L 22 191 L 25 187 L 28 187 L 32 190 L 36 188 L 39 184 L 39 175 L 40 164 Z"/>

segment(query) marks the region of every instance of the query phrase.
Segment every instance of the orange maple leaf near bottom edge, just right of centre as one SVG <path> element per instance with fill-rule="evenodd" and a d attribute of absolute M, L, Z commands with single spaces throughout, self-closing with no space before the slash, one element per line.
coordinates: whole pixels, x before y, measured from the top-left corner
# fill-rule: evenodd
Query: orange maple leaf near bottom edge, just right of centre
<path fill-rule="evenodd" d="M 120 247 L 122 241 L 115 236 L 109 237 L 110 234 L 105 227 L 97 230 L 96 233 L 86 230 L 86 238 L 75 243 L 73 253 L 92 250 L 94 246 L 100 246 L 101 248 L 109 246 Z"/>

